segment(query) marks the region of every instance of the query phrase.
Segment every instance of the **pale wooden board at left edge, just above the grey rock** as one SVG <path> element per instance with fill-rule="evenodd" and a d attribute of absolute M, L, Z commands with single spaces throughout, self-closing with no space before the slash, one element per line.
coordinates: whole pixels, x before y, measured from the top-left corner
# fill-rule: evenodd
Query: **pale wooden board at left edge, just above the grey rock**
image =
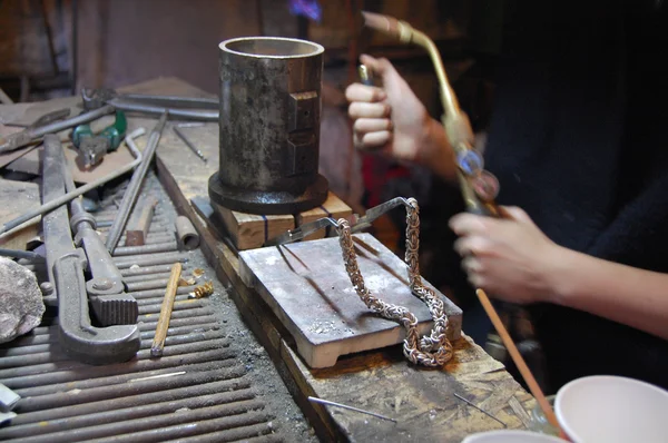
<path fill-rule="evenodd" d="M 41 198 L 39 185 L 29 181 L 14 181 L 0 178 L 0 224 L 4 224 L 39 207 Z M 0 235 L 0 247 L 26 249 L 26 245 L 37 237 L 40 216 L 37 216 L 8 233 Z"/>

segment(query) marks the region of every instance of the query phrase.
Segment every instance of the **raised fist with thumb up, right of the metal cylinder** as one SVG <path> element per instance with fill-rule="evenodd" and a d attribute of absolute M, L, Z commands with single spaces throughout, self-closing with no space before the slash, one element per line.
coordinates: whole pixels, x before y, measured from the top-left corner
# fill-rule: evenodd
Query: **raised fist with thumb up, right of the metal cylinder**
<path fill-rule="evenodd" d="M 453 155 L 443 127 L 430 117 L 389 60 L 362 56 L 360 61 L 381 79 L 382 88 L 353 83 L 345 91 L 355 147 L 418 163 L 453 178 Z"/>

